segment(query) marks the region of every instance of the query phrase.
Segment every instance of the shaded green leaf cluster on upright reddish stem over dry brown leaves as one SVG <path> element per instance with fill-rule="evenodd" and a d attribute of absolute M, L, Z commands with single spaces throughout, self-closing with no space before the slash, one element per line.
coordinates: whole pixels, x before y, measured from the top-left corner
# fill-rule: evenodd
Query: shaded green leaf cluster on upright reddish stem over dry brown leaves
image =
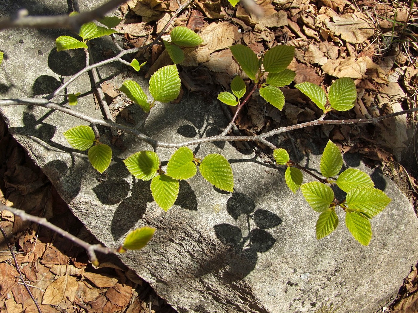
<path fill-rule="evenodd" d="M 245 45 L 233 45 L 230 49 L 242 71 L 256 84 L 265 73 L 268 73 L 266 82 L 260 86 L 260 96 L 277 109 L 283 109 L 285 97 L 279 87 L 290 84 L 295 78 L 296 73 L 287 69 L 293 60 L 295 48 L 288 45 L 278 45 L 267 50 L 260 59 Z M 232 98 L 234 97 L 231 97 L 230 93 L 220 93 L 218 96 L 220 101 L 229 105 L 233 105 L 230 104 L 233 103 Z"/>

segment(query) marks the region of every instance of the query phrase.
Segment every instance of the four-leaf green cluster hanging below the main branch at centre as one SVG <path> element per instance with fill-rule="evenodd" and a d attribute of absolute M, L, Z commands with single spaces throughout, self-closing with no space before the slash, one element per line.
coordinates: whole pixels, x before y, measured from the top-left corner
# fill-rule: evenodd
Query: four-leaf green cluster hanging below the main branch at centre
<path fill-rule="evenodd" d="M 234 191 L 231 166 L 220 154 L 209 154 L 201 160 L 196 159 L 188 147 L 181 147 L 171 156 L 166 172 L 161 169 L 160 159 L 154 151 L 139 151 L 123 162 L 137 179 L 151 180 L 153 198 L 164 211 L 168 211 L 176 202 L 179 180 L 196 175 L 197 164 L 200 164 L 201 175 L 212 185 L 225 191 Z"/>

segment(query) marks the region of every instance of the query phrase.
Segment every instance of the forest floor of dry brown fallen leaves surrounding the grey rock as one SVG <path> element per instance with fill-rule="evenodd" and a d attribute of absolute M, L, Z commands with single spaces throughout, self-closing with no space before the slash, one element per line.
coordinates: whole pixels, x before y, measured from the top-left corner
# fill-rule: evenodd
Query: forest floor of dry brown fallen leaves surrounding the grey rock
<path fill-rule="evenodd" d="M 333 119 L 372 118 L 417 107 L 418 8 L 413 1 L 258 0 L 257 3 L 264 11 L 262 18 L 247 13 L 240 4 L 233 8 L 225 0 L 196 0 L 174 20 L 173 26 L 190 28 L 207 43 L 188 50 L 179 66 L 181 94 L 196 92 L 204 97 L 216 97 L 219 91 L 229 90 L 234 75 L 240 74 L 228 49 L 234 43 L 243 43 L 257 54 L 287 44 L 296 47 L 296 57 L 289 66 L 296 72 L 295 83 L 309 81 L 327 90 L 335 78 L 355 79 L 358 100 L 354 109 L 337 112 Z M 125 48 L 150 43 L 177 8 L 175 0 L 130 0 L 122 5 L 117 14 L 123 20 L 116 29 Z M 102 54 L 108 58 L 114 51 L 103 50 Z M 147 77 L 171 63 L 161 45 L 141 50 L 135 58 L 148 62 Z M 109 81 L 103 82 L 102 88 L 112 113 L 129 122 L 129 113 L 118 107 L 121 95 L 117 86 Z M 282 111 L 266 106 L 255 94 L 238 116 L 239 131 L 244 135 L 260 134 L 321 115 L 294 88 L 294 83 L 282 91 L 286 99 Z M 343 152 L 361 154 L 369 167 L 381 167 L 417 210 L 417 119 L 416 114 L 402 115 L 377 125 L 324 126 L 298 130 L 288 137 L 303 154 L 310 152 L 306 143 L 312 141 L 313 132 L 318 144 L 324 146 L 331 139 Z M 262 145 L 252 149 L 271 152 Z M 46 217 L 87 242 L 95 241 L 47 177 L 8 134 L 3 121 L 0 121 L 0 198 L 6 205 Z M 0 225 L 8 236 L 8 240 L 0 240 L 3 295 L 0 311 L 38 312 L 19 279 L 9 242 L 21 278 L 44 313 L 143 313 L 149 312 L 150 307 L 157 313 L 175 312 L 116 257 L 94 268 L 81 248 L 44 227 L 23 222 L 7 212 L 1 214 Z M 74 280 L 65 282 L 71 286 L 68 294 L 51 294 L 53 289 L 60 290 L 63 282 L 59 278 L 69 276 Z M 397 300 L 381 312 L 418 312 L 417 290 L 417 268 L 413 267 Z M 58 305 L 46 304 L 54 303 L 54 297 L 62 298 Z"/>

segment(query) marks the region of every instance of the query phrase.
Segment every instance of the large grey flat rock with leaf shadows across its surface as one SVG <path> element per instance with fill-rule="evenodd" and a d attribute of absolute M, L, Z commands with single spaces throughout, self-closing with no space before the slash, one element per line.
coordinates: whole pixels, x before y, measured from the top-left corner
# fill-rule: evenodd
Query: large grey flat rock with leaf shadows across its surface
<path fill-rule="evenodd" d="M 59 82 L 61 75 L 71 75 L 62 72 L 66 67 L 49 62 L 60 34 L 2 32 L 1 98 L 40 95 L 55 83 L 53 78 Z M 63 61 L 66 65 L 82 59 L 71 51 L 56 56 L 54 62 L 63 57 L 69 58 Z M 72 70 L 67 66 L 67 71 Z M 102 77 L 118 70 L 100 69 Z M 115 75 L 114 83 L 120 84 L 121 78 Z M 147 89 L 142 78 L 134 79 Z M 89 86 L 84 75 L 67 92 L 85 93 L 74 109 L 101 117 Z M 130 110 L 139 112 L 136 107 Z M 266 165 L 254 154 L 242 154 L 230 143 L 190 148 L 197 156 L 221 153 L 229 160 L 234 193 L 214 189 L 197 174 L 181 182 L 176 204 L 164 212 L 153 202 L 150 183 L 135 180 L 122 162 L 136 151 L 151 149 L 149 145 L 123 136 L 125 151 L 112 146 L 111 166 L 102 175 L 89 165 L 87 153 L 72 149 L 62 134 L 86 122 L 38 107 L 8 106 L 0 113 L 74 214 L 104 245 L 116 247 L 136 227 L 157 228 L 142 251 L 120 258 L 179 312 L 313 312 L 334 303 L 341 306 L 339 312 L 370 313 L 393 299 L 416 262 L 418 238 L 413 230 L 418 220 L 413 207 L 389 179 L 365 168 L 355 156 L 344 156 L 345 163 L 372 174 L 376 187 L 393 199 L 373 218 L 373 237 L 367 247 L 349 234 L 342 212 L 337 212 L 341 222 L 336 231 L 316 240 L 318 213 L 300 191 L 293 194 L 285 186 L 284 168 Z M 178 104 L 158 103 L 141 131 L 158 140 L 178 142 L 186 136 L 214 134 L 226 125 L 218 103 L 185 96 Z M 108 143 L 109 131 L 100 130 Z M 157 150 L 163 162 L 173 152 Z M 318 170 L 319 155 L 306 156 L 301 165 Z"/>

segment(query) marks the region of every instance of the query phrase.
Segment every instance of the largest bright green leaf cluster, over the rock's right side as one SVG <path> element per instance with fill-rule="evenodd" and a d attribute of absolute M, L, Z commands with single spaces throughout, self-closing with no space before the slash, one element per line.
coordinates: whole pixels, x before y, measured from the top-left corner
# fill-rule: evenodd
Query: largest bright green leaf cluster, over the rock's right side
<path fill-rule="evenodd" d="M 359 169 L 346 169 L 339 174 L 343 160 L 338 146 L 328 141 L 319 165 L 325 177 L 320 182 L 302 184 L 302 172 L 293 166 L 285 149 L 275 149 L 273 155 L 277 164 L 288 166 L 285 181 L 289 189 L 295 193 L 300 187 L 308 204 L 320 213 L 315 227 L 317 239 L 335 230 L 339 222 L 335 209 L 340 207 L 345 212 L 345 224 L 354 239 L 362 245 L 369 244 L 372 237 L 370 219 L 385 209 L 391 199 L 376 189 L 369 175 Z M 336 200 L 328 184 L 346 192 L 346 198 L 341 202 Z"/>

